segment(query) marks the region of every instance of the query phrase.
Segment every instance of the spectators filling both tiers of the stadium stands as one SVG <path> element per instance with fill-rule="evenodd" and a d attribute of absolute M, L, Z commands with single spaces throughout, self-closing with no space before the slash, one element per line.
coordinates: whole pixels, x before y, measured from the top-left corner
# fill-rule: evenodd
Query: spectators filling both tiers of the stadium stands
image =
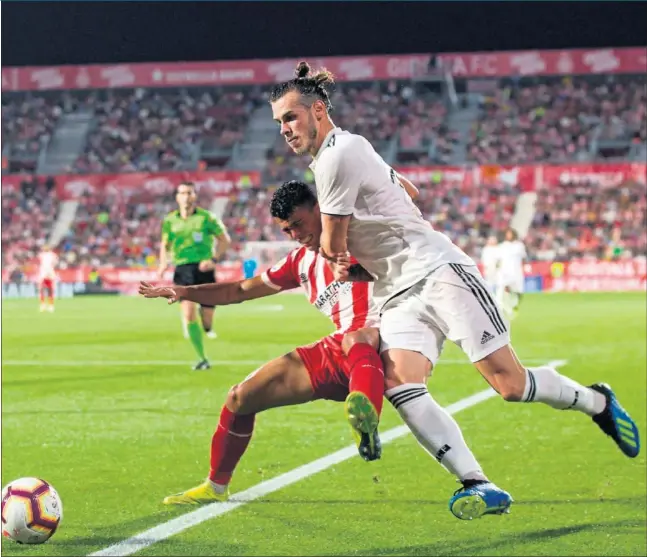
<path fill-rule="evenodd" d="M 414 83 L 340 84 L 333 97 L 335 122 L 360 133 L 394 165 L 432 165 L 450 160 L 461 135 L 450 129 L 439 97 Z M 94 114 L 83 153 L 69 173 L 160 171 L 196 168 L 205 146 L 231 151 L 263 91 L 186 89 L 90 91 L 3 95 L 3 173 L 33 171 L 58 119 L 74 111 Z M 466 145 L 476 163 L 584 160 L 600 140 L 647 143 L 645 79 L 560 79 L 504 83 L 482 98 Z M 392 147 L 397 144 L 397 149 Z M 223 159 L 226 161 L 226 158 Z M 263 188 L 240 189 L 223 220 L 233 240 L 232 258 L 250 241 L 284 240 L 267 211 L 273 188 L 285 180 L 312 182 L 307 157 L 296 157 L 277 136 L 267 151 Z M 475 258 L 491 234 L 510 224 L 517 199 L 511 185 L 465 187 L 449 181 L 418 184 L 417 201 L 438 230 Z M 200 199 L 203 206 L 210 200 Z M 26 175 L 18 191 L 3 191 L 2 264 L 33 258 L 52 231 L 59 203 L 51 178 Z M 58 245 L 63 266 L 155 265 L 162 215 L 173 193 L 157 198 L 119 192 L 86 193 Z M 645 255 L 644 186 L 616 188 L 563 184 L 540 190 L 526 242 L 531 258 L 603 259 Z"/>

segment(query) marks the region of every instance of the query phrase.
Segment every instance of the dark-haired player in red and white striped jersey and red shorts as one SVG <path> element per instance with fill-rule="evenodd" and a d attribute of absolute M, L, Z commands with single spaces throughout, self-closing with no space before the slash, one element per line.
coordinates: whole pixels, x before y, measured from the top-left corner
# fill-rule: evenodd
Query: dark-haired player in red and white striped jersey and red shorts
<path fill-rule="evenodd" d="M 140 294 L 169 302 L 221 306 L 302 287 L 308 301 L 332 321 L 335 332 L 268 362 L 231 388 L 212 438 L 208 479 L 170 495 L 165 504 L 225 501 L 234 468 L 251 439 L 256 414 L 278 406 L 317 399 L 343 401 L 360 455 L 367 461 L 380 457 L 377 426 L 384 371 L 377 353 L 379 318 L 372 285 L 334 279 L 319 255 L 321 215 L 305 183 L 283 184 L 274 193 L 270 211 L 281 229 L 301 245 L 268 271 L 229 283 L 173 287 L 142 283 Z"/>

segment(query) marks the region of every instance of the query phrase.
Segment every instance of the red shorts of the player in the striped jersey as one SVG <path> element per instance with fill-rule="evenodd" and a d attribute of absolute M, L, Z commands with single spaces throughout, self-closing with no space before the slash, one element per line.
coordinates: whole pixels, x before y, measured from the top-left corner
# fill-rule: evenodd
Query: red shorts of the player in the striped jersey
<path fill-rule="evenodd" d="M 313 344 L 300 346 L 296 351 L 310 375 L 315 400 L 346 400 L 350 369 L 341 349 L 341 337 L 339 340 L 332 336 L 324 337 Z"/>

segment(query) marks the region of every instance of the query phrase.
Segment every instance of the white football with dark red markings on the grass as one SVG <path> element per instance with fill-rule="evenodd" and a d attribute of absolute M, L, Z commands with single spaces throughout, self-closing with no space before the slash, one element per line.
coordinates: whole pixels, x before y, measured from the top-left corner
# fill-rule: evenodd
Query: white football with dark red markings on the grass
<path fill-rule="evenodd" d="M 63 519 L 57 491 L 45 480 L 20 478 L 2 489 L 2 535 L 18 543 L 44 543 Z"/>

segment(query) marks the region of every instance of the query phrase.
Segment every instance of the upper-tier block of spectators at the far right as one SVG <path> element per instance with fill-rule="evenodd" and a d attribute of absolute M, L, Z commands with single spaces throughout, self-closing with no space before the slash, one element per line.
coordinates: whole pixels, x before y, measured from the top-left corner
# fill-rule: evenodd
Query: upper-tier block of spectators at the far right
<path fill-rule="evenodd" d="M 626 157 L 645 143 L 645 79 L 508 85 L 484 97 L 468 160 L 479 164 Z"/>

